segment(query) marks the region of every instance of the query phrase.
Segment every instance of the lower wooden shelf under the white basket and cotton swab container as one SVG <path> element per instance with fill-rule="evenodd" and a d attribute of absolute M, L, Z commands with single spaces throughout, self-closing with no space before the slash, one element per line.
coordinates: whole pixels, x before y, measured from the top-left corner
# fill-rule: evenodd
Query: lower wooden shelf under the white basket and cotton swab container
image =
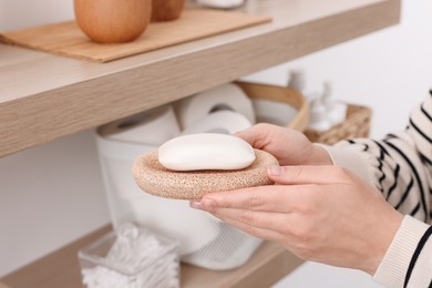
<path fill-rule="evenodd" d="M 76 288 L 81 287 L 78 250 L 111 230 L 102 227 L 88 236 L 13 271 L 0 279 L 3 287 Z M 182 264 L 181 286 L 200 287 L 269 287 L 297 268 L 302 260 L 280 245 L 265 243 L 241 267 L 215 271 Z"/>

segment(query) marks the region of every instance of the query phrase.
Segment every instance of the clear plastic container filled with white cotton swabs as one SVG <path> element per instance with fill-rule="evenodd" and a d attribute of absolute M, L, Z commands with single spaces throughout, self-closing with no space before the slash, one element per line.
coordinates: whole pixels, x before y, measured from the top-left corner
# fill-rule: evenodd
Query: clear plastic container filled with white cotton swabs
<path fill-rule="evenodd" d="M 177 288 L 177 247 L 175 240 L 123 225 L 79 251 L 83 286 Z"/>

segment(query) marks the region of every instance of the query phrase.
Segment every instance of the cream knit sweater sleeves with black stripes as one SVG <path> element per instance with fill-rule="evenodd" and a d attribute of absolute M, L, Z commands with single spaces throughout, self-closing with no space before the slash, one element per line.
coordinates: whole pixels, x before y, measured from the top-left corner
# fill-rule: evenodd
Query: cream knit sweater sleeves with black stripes
<path fill-rule="evenodd" d="M 327 147 L 333 163 L 371 185 L 405 215 L 373 278 L 385 287 L 432 288 L 432 91 L 402 132 Z"/>

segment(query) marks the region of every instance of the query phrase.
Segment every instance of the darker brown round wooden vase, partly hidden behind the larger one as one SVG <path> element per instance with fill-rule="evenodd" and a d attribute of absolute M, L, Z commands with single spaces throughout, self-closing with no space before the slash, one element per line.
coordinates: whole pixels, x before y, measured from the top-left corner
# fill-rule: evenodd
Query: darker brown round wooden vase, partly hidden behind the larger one
<path fill-rule="evenodd" d="M 185 0 L 153 0 L 152 21 L 171 21 L 181 17 Z"/>

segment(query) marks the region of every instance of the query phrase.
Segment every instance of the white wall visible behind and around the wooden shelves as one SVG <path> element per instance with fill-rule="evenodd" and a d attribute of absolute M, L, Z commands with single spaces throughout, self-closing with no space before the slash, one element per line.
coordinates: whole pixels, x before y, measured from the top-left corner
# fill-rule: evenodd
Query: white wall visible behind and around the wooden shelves
<path fill-rule="evenodd" d="M 0 0 L 0 31 L 71 18 L 69 0 Z M 246 79 L 285 84 L 287 71 L 300 69 L 309 90 L 331 81 L 336 97 L 373 107 L 372 135 L 379 136 L 402 128 L 409 107 L 432 88 L 431 34 L 431 1 L 407 0 L 395 28 Z M 0 275 L 109 222 L 91 131 L 0 158 Z M 278 287 L 312 287 L 305 277 L 326 269 L 309 264 Z M 335 268 L 329 276 L 347 274 Z M 346 286 L 339 284 L 327 287 Z"/>

